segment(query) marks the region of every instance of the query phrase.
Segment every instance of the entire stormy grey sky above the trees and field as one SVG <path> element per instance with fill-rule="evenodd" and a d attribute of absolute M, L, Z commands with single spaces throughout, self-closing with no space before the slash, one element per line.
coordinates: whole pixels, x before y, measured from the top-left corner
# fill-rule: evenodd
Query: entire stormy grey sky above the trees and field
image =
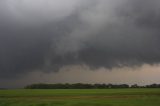
<path fill-rule="evenodd" d="M 159 0 L 1 0 L 0 87 L 160 82 Z"/>

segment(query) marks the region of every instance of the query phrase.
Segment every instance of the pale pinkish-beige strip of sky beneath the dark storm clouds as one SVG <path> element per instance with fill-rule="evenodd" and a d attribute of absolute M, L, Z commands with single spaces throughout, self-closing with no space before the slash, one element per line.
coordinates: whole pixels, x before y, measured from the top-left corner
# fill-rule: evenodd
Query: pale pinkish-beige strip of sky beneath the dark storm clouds
<path fill-rule="evenodd" d="M 141 67 L 90 69 L 86 65 L 65 66 L 57 73 L 35 71 L 16 80 L 3 80 L 5 87 L 23 87 L 32 83 L 112 83 L 147 85 L 160 82 L 160 64 Z"/>

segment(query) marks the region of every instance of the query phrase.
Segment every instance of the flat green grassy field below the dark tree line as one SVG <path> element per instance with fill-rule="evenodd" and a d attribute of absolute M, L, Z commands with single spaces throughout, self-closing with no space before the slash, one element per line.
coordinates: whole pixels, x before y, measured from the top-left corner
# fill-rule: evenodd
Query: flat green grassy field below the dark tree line
<path fill-rule="evenodd" d="M 0 106 L 160 106 L 160 89 L 0 90 Z"/>

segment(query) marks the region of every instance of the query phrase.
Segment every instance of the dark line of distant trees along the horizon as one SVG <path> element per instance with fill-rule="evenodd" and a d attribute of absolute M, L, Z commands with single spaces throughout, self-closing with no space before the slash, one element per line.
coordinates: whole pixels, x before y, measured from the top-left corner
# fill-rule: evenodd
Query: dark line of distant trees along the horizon
<path fill-rule="evenodd" d="M 31 84 L 25 89 L 109 89 L 109 88 L 160 88 L 160 84 L 151 84 L 146 86 L 139 86 L 137 84 Z"/>

